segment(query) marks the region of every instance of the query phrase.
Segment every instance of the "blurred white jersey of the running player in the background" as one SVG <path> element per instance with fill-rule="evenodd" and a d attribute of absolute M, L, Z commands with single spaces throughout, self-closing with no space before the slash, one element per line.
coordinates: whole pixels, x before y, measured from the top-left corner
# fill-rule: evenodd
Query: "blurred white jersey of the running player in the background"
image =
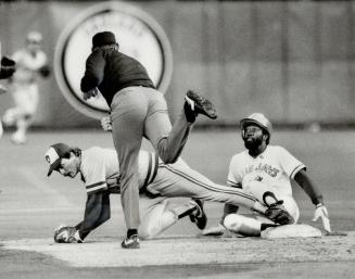
<path fill-rule="evenodd" d="M 33 55 L 28 50 L 22 49 L 16 51 L 12 59 L 16 62 L 13 81 L 17 86 L 34 84 L 38 77 L 38 69 L 47 64 L 47 55 L 41 50 Z"/>

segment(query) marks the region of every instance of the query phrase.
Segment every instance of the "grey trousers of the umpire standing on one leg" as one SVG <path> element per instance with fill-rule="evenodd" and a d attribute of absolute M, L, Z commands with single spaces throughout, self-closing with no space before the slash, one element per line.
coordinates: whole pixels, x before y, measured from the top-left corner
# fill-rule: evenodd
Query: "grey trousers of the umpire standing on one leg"
<path fill-rule="evenodd" d="M 153 144 L 165 163 L 179 156 L 187 141 L 191 124 L 183 112 L 172 127 L 164 96 L 145 87 L 119 90 L 111 104 L 112 136 L 118 155 L 121 201 L 128 229 L 140 224 L 138 153 L 142 138 Z"/>

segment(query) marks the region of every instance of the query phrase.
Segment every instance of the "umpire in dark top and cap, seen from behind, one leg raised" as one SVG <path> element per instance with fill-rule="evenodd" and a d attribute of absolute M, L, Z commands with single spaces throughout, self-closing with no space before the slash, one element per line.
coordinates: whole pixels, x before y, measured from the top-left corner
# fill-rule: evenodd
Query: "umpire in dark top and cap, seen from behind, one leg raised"
<path fill-rule="evenodd" d="M 122 246 L 138 249 L 138 153 L 142 138 L 150 140 L 165 163 L 174 163 L 196 115 L 216 118 L 216 111 L 208 100 L 189 90 L 183 113 L 172 127 L 164 96 L 155 89 L 140 62 L 119 52 L 111 31 L 92 37 L 92 51 L 86 61 L 80 88 L 84 100 L 101 92 L 111 109 L 112 136 L 122 174 L 121 200 L 128 229 Z"/>

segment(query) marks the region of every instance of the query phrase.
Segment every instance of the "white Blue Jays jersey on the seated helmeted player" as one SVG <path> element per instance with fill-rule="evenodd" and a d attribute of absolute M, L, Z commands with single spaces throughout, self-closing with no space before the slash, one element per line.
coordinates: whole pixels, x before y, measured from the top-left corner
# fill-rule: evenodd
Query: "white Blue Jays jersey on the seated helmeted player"
<path fill-rule="evenodd" d="M 245 150 L 231 158 L 227 183 L 241 188 L 256 179 L 265 182 L 279 195 L 292 196 L 290 179 L 302 168 L 305 165 L 281 147 L 267 145 L 256 157 L 252 157 Z"/>

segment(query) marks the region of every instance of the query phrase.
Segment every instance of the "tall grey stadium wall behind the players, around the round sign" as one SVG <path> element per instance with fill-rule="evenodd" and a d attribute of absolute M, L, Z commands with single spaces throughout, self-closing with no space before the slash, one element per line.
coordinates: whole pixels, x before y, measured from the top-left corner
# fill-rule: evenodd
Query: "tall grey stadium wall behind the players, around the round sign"
<path fill-rule="evenodd" d="M 279 124 L 355 123 L 353 2 L 131 2 L 168 36 L 174 74 L 166 99 L 174 119 L 189 88 L 213 100 L 217 122 L 233 125 L 254 111 Z M 64 26 L 92 2 L 0 2 L 2 53 L 42 33 L 53 61 Z M 118 38 L 119 40 L 119 38 Z M 78 50 L 79 51 L 79 50 Z M 62 96 L 54 75 L 40 81 L 36 125 L 97 127 Z M 0 113 L 12 105 L 1 96 Z"/>

